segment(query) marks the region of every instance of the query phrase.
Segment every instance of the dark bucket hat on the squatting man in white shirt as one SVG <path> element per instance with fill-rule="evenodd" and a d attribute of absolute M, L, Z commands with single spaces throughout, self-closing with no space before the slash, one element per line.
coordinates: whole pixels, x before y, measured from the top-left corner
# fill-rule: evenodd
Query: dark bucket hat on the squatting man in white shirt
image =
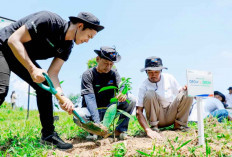
<path fill-rule="evenodd" d="M 156 56 L 151 56 L 145 60 L 145 68 L 141 69 L 141 72 L 146 71 L 146 70 L 158 71 L 162 69 L 168 69 L 168 68 L 163 67 L 161 58 L 156 57 Z"/>

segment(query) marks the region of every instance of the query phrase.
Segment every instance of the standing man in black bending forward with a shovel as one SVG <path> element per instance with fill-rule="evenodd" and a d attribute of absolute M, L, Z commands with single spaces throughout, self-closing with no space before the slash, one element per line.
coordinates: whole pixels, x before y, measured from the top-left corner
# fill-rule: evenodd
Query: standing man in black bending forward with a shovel
<path fill-rule="evenodd" d="M 42 143 L 53 144 L 60 149 L 70 149 L 55 132 L 53 125 L 52 95 L 37 83 L 45 81 L 47 73 L 56 90 L 66 102 L 61 108 L 69 114 L 72 102 L 66 98 L 59 85 L 58 73 L 73 48 L 88 42 L 104 27 L 91 13 L 81 12 L 77 17 L 65 21 L 59 15 L 41 11 L 28 15 L 0 30 L 0 105 L 9 88 L 10 72 L 13 71 L 36 90 L 37 106 L 42 124 Z M 48 71 L 41 69 L 36 60 L 53 58 Z"/>

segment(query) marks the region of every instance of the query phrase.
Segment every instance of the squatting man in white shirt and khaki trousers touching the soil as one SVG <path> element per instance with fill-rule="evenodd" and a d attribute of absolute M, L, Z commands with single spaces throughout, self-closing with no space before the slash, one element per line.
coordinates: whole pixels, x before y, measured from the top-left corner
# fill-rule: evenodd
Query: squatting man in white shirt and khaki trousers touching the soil
<path fill-rule="evenodd" d="M 148 79 L 139 88 L 136 115 L 147 136 L 152 139 L 161 138 L 160 127 L 174 124 L 175 130 L 187 131 L 189 109 L 192 98 L 187 97 L 187 86 L 180 87 L 176 79 L 167 73 L 162 73 L 162 60 L 159 57 L 148 57 L 145 68 Z M 143 115 L 145 108 L 147 124 Z"/>

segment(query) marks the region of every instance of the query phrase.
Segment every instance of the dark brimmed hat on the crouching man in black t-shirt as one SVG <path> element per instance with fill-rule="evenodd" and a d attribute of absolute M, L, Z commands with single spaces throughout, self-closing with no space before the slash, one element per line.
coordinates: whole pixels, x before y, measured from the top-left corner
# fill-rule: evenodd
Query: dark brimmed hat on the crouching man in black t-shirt
<path fill-rule="evenodd" d="M 94 52 L 101 58 L 107 59 L 114 63 L 117 63 L 121 60 L 121 56 L 115 50 L 115 48 L 102 46 L 100 50 L 94 50 Z"/>

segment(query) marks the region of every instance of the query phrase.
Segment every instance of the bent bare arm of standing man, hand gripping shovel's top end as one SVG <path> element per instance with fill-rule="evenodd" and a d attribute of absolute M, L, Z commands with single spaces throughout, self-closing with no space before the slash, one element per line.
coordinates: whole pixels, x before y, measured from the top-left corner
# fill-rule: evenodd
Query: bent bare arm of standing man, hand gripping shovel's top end
<path fill-rule="evenodd" d="M 18 61 L 27 69 L 31 78 L 36 83 L 41 83 L 45 80 L 42 75 L 45 70 L 37 68 L 28 56 L 28 53 L 23 43 L 31 40 L 31 36 L 25 25 L 16 30 L 8 39 L 8 45 Z"/>

